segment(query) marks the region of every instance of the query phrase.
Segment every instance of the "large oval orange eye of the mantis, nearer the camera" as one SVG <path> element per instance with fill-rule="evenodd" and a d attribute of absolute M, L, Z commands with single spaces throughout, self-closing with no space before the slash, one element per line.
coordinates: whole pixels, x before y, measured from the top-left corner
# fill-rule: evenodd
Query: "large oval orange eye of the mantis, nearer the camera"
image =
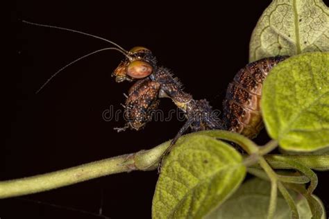
<path fill-rule="evenodd" d="M 152 71 L 153 71 L 153 67 L 151 67 L 151 64 L 140 60 L 136 60 L 128 65 L 127 75 L 130 76 L 131 78 L 140 79 L 140 78 L 146 78 L 152 73 Z"/>

